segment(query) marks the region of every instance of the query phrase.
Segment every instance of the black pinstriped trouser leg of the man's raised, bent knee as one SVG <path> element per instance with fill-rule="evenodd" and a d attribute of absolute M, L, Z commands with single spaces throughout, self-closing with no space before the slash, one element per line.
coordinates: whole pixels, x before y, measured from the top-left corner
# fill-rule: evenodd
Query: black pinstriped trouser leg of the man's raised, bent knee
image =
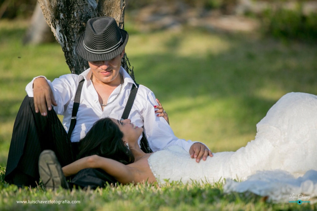
<path fill-rule="evenodd" d="M 54 109 L 43 117 L 35 112 L 33 98 L 26 96 L 13 126 L 4 180 L 35 186 L 39 181 L 38 158 L 47 149 L 55 152 L 61 166 L 75 160 L 72 144 Z"/>

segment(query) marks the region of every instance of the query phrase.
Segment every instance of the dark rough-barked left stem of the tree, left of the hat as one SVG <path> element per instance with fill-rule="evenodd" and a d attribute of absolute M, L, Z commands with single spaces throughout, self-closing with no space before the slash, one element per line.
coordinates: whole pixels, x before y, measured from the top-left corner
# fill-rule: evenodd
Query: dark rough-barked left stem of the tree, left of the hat
<path fill-rule="evenodd" d="M 75 41 L 97 7 L 94 0 L 38 0 L 46 22 L 61 45 L 71 73 L 80 74 L 88 62 L 75 52 Z"/>

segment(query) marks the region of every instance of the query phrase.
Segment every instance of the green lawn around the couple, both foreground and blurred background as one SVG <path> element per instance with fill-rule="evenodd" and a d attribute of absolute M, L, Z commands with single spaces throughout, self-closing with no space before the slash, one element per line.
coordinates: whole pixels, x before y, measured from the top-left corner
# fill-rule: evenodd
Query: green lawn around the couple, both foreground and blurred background
<path fill-rule="evenodd" d="M 126 30 L 129 31 L 129 22 Z M 272 204 L 252 194 L 224 194 L 222 184 L 128 185 L 104 189 L 16 189 L 3 183 L 11 133 L 24 88 L 34 76 L 68 74 L 61 47 L 23 46 L 27 22 L 0 20 L 1 210 L 316 210 Z M 317 94 L 315 44 L 278 42 L 202 29 L 141 34 L 131 30 L 126 53 L 138 83 L 161 100 L 180 138 L 213 152 L 237 150 L 256 135 L 256 123 L 288 92 Z M 80 204 L 17 204 L 16 200 L 79 200 Z"/>

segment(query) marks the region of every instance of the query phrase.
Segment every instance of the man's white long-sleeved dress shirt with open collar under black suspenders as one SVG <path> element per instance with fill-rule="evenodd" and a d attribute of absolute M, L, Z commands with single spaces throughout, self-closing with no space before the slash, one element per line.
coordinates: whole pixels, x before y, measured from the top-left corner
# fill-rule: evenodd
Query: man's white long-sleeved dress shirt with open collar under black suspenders
<path fill-rule="evenodd" d="M 85 137 L 92 125 L 101 118 L 121 118 L 134 81 L 123 67 L 120 68 L 120 73 L 124 79 L 121 94 L 112 104 L 104 107 L 104 110 L 102 110 L 100 106 L 98 93 L 90 80 L 90 68 L 80 75 L 66 74 L 53 80 L 53 82 L 47 80 L 49 86 L 53 90 L 54 98 L 57 103 L 57 106 L 53 106 L 54 110 L 57 114 L 63 115 L 63 125 L 65 130 L 68 131 L 77 86 L 83 78 L 85 79 L 81 91 L 76 125 L 71 135 L 72 142 L 78 142 L 81 138 Z M 33 97 L 33 81 L 36 78 L 34 78 L 25 88 L 29 97 Z M 44 78 L 46 79 L 46 77 Z M 120 85 L 113 90 L 109 96 L 108 102 L 111 102 L 117 96 L 119 91 Z M 150 148 L 153 151 L 158 151 L 168 146 L 179 145 L 189 152 L 191 145 L 195 142 L 190 140 L 185 141 L 184 139 L 176 137 L 165 119 L 156 116 L 154 113 L 154 105 L 158 105 L 154 93 L 147 87 L 139 85 L 138 93 L 131 108 L 129 118 L 132 123 L 138 127 L 144 128 Z M 141 137 L 139 138 L 139 141 L 140 139 Z"/>

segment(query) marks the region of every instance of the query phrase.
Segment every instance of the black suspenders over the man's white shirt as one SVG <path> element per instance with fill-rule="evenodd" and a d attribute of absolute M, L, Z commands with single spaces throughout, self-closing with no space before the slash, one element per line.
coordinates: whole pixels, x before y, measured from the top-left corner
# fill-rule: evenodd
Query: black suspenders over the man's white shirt
<path fill-rule="evenodd" d="M 74 99 L 72 118 L 70 121 L 70 126 L 69 126 L 69 130 L 68 130 L 68 134 L 67 134 L 69 137 L 69 140 L 70 140 L 70 136 L 72 134 L 72 131 L 74 130 L 74 127 L 76 125 L 76 115 L 77 115 L 77 111 L 78 111 L 79 104 L 80 104 L 80 97 L 81 97 L 81 90 L 82 90 L 83 83 L 84 83 L 84 79 L 79 82 L 78 87 L 77 87 L 77 91 L 76 91 L 76 95 L 75 95 L 75 99 Z M 137 86 L 139 87 L 139 84 L 137 84 Z M 133 84 L 128 101 L 126 103 L 126 107 L 125 107 L 123 114 L 121 116 L 121 120 L 127 119 L 129 117 L 135 96 L 137 95 L 137 92 L 138 92 L 138 87 L 136 87 L 135 84 Z M 152 152 L 144 132 L 142 134 L 140 146 L 141 146 L 141 150 L 143 150 L 144 152 L 146 152 L 146 153 Z"/>

